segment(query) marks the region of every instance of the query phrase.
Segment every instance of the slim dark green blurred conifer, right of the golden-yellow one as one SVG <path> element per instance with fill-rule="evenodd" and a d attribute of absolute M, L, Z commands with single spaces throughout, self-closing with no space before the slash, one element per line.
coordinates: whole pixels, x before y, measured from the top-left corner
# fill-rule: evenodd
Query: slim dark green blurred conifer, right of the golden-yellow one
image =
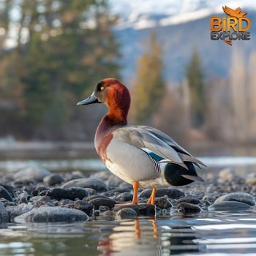
<path fill-rule="evenodd" d="M 197 50 L 193 50 L 192 57 L 186 69 L 190 91 L 191 119 L 193 127 L 201 127 L 205 120 L 206 99 L 203 82 L 203 71 Z"/>

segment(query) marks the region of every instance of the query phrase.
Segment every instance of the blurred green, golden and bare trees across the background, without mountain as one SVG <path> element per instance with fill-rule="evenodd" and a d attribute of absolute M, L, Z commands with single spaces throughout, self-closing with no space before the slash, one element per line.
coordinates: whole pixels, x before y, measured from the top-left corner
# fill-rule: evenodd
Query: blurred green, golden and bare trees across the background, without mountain
<path fill-rule="evenodd" d="M 106 109 L 76 105 L 102 78 L 121 80 L 118 17 L 107 0 L 0 2 L 0 138 L 92 141 Z M 132 124 L 176 140 L 256 142 L 256 51 L 233 52 L 228 78 L 209 78 L 195 48 L 178 85 L 165 80 L 154 29 L 130 81 Z"/>

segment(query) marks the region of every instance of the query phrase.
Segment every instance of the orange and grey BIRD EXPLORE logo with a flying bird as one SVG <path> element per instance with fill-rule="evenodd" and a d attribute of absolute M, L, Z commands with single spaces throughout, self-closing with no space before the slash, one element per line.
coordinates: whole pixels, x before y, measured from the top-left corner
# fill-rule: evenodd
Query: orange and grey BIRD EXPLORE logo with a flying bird
<path fill-rule="evenodd" d="M 249 40 L 251 20 L 245 17 L 247 12 L 242 12 L 240 7 L 233 10 L 226 5 L 222 9 L 227 16 L 211 17 L 211 40 L 222 40 L 227 45 L 236 40 Z"/>

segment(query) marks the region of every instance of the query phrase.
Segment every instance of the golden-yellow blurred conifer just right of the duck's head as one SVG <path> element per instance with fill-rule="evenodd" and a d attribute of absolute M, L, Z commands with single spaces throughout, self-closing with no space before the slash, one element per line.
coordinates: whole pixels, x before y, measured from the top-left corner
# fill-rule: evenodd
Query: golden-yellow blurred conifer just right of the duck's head
<path fill-rule="evenodd" d="M 136 123 L 149 123 L 165 92 L 161 45 L 152 32 L 148 48 L 138 59 L 137 78 L 132 85 L 132 117 Z"/>

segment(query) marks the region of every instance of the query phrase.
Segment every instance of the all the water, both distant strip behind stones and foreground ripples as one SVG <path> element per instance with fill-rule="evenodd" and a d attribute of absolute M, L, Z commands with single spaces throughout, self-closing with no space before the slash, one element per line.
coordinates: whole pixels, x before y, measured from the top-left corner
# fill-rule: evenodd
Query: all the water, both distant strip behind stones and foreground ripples
<path fill-rule="evenodd" d="M 230 167 L 241 175 L 256 168 L 255 148 L 197 154 L 208 165 L 200 173 Z M 59 156 L 59 155 L 58 155 Z M 29 157 L 0 160 L 0 170 L 12 172 L 39 165 L 51 171 L 95 172 L 105 166 L 94 157 Z M 89 154 L 91 156 L 91 154 Z M 214 156 L 214 157 L 209 157 Z M 182 217 L 177 212 L 157 217 L 117 219 L 97 217 L 88 222 L 0 225 L 0 255 L 256 255 L 256 208 L 250 211 L 206 212 Z"/>

